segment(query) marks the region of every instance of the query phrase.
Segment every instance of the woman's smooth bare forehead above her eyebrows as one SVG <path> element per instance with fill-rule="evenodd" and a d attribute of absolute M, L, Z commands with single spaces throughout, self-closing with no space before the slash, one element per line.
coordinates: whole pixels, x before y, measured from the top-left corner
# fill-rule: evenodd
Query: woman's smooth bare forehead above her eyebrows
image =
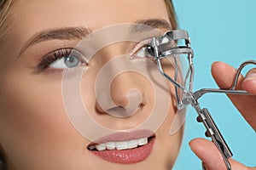
<path fill-rule="evenodd" d="M 15 26 L 32 29 L 88 26 L 92 30 L 149 18 L 168 20 L 164 0 L 18 0 Z"/>

